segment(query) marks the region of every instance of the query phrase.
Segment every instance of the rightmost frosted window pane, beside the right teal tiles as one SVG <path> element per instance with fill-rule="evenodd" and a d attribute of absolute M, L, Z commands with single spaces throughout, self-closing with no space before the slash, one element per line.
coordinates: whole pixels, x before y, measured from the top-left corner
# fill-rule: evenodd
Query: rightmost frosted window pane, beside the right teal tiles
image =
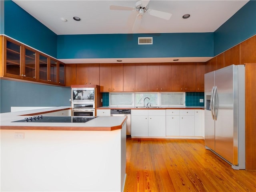
<path fill-rule="evenodd" d="M 173 106 L 185 104 L 185 93 L 162 93 L 161 94 L 161 105 Z"/>

